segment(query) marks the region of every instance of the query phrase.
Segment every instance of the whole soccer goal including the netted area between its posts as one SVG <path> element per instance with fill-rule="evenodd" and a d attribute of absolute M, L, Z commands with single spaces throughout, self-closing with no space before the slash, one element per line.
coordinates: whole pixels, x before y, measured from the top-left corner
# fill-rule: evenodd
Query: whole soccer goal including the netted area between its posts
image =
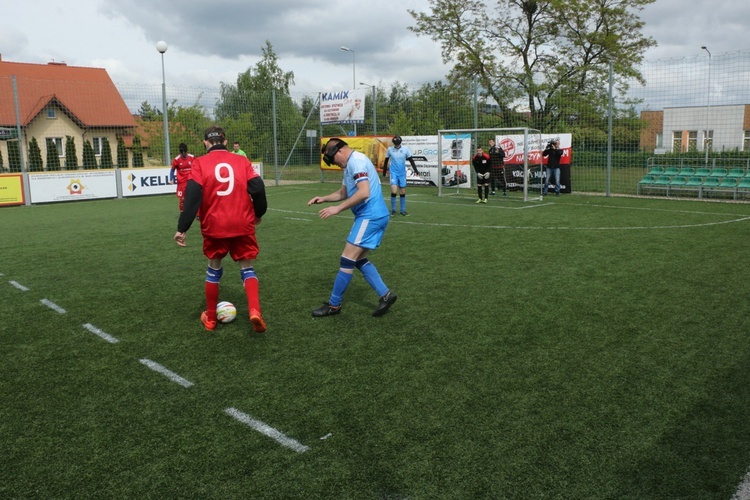
<path fill-rule="evenodd" d="M 489 150 L 490 139 L 505 153 L 504 176 L 502 179 L 496 177 L 496 182 L 505 182 L 508 196 L 523 197 L 523 201 L 541 199 L 545 145 L 542 144 L 542 132 L 532 128 L 438 130 L 438 168 L 441 174 L 437 183 L 438 196 L 461 194 L 461 190 L 476 188 L 471 159 L 478 147 L 485 153 Z"/>

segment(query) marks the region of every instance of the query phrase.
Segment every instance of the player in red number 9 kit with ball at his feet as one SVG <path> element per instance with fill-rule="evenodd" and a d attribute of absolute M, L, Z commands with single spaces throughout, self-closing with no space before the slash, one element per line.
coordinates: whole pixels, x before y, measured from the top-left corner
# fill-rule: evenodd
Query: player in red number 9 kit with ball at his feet
<path fill-rule="evenodd" d="M 185 189 L 185 210 L 177 222 L 174 240 L 185 246 L 185 233 L 200 210 L 203 254 L 208 257 L 206 310 L 201 322 L 206 330 L 216 328 L 219 281 L 224 272 L 221 261 L 229 254 L 240 265 L 253 330 L 262 333 L 266 323 L 260 312 L 253 265 L 258 256 L 255 226 L 268 208 L 266 188 L 250 160 L 227 150 L 223 128 L 212 125 L 206 129 L 203 144 L 208 152 L 193 160 Z"/>

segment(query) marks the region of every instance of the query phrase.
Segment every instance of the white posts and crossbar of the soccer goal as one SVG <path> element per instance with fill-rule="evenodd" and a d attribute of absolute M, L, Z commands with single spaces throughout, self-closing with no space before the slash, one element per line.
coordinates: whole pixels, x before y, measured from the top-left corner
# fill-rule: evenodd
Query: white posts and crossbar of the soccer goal
<path fill-rule="evenodd" d="M 479 133 L 488 133 L 491 132 L 494 134 L 495 137 L 497 136 L 507 136 L 507 135 L 523 135 L 523 201 L 529 201 L 529 195 L 534 194 L 534 198 L 536 198 L 535 193 L 530 193 L 530 175 L 529 175 L 529 166 L 538 166 L 539 167 L 539 199 L 542 197 L 542 190 L 544 188 L 544 172 L 543 172 L 543 165 L 542 165 L 542 155 L 541 151 L 543 149 L 542 145 L 542 131 L 534 128 L 529 127 L 511 127 L 511 128 L 463 128 L 463 129 L 446 129 L 446 130 L 438 130 L 438 179 L 441 179 L 440 182 L 437 183 L 438 185 L 438 196 L 443 196 L 443 182 L 442 182 L 442 176 L 440 175 L 442 169 L 444 166 L 450 165 L 450 160 L 443 158 L 443 151 L 447 151 L 447 149 L 443 148 L 443 138 L 445 137 L 446 140 L 450 140 L 450 136 L 454 136 L 456 139 L 459 138 L 460 135 L 466 135 L 470 134 L 472 136 L 472 142 L 476 144 L 476 135 Z M 530 147 L 530 143 L 536 140 L 536 143 L 538 144 L 538 151 L 539 151 L 539 162 L 538 163 L 531 163 L 529 161 L 529 155 L 533 151 L 533 148 Z M 471 153 L 470 153 L 471 154 Z M 470 156 L 471 157 L 471 156 Z M 471 168 L 471 163 L 469 164 L 469 171 L 471 172 L 473 169 Z M 473 183 L 470 182 L 471 185 Z M 459 186 L 456 186 L 456 193 L 459 192 L 459 190 L 462 189 Z"/>

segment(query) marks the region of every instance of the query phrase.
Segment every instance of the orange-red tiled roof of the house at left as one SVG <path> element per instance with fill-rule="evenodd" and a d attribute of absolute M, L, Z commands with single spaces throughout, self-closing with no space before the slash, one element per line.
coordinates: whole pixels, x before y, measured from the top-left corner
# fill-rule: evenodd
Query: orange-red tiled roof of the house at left
<path fill-rule="evenodd" d="M 50 102 L 79 126 L 134 127 L 133 115 L 103 68 L 65 63 L 30 64 L 0 59 L 0 126 L 15 126 L 12 78 L 16 77 L 21 126 L 27 126 Z"/>

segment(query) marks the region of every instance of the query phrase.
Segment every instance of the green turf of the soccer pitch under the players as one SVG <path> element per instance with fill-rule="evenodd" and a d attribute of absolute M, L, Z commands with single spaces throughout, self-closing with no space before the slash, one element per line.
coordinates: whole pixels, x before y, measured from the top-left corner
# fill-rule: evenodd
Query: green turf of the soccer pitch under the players
<path fill-rule="evenodd" d="M 337 187 L 269 188 L 262 335 L 231 261 L 239 317 L 203 331 L 172 196 L 0 209 L 0 497 L 732 496 L 750 205 L 412 188 L 371 255 L 398 302 L 373 318 L 355 275 L 314 319 L 352 219 L 306 202 Z"/>

